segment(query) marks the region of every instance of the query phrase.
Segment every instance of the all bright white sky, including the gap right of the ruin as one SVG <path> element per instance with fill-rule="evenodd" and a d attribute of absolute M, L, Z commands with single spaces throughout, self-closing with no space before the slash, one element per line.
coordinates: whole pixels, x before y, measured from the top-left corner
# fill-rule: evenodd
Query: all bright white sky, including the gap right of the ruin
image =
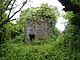
<path fill-rule="evenodd" d="M 17 4 L 21 4 L 23 1 L 25 0 L 17 0 Z M 41 4 L 43 3 L 48 3 L 48 5 L 52 5 L 52 6 L 57 6 L 58 7 L 58 10 L 63 13 L 62 11 L 62 8 L 63 6 L 61 5 L 61 3 L 58 1 L 58 0 L 30 0 L 30 2 L 28 2 L 22 10 L 28 8 L 28 7 L 37 7 L 37 6 L 40 6 Z M 18 10 L 20 6 L 18 6 L 15 10 Z M 17 18 L 19 17 L 19 14 L 20 13 L 17 13 L 14 18 Z M 62 22 L 64 22 L 65 19 L 63 17 L 59 17 L 58 18 L 58 21 L 57 21 L 57 24 L 56 24 L 56 27 L 60 30 L 60 31 L 63 31 L 65 29 L 65 26 L 64 24 L 62 24 Z"/>

